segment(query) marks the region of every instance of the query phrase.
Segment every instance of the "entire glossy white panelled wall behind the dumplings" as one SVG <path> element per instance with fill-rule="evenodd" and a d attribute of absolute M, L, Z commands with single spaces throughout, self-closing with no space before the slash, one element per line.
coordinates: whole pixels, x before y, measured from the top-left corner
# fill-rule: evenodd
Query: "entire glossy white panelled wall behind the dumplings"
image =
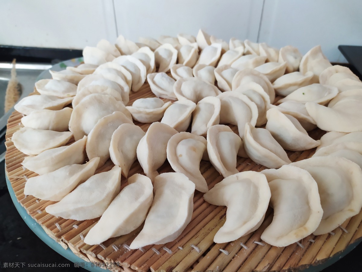
<path fill-rule="evenodd" d="M 0 44 L 81 49 L 118 34 L 137 41 L 202 28 L 302 54 L 321 44 L 329 60 L 346 62 L 337 46 L 362 45 L 361 10 L 362 0 L 0 0 Z"/>

